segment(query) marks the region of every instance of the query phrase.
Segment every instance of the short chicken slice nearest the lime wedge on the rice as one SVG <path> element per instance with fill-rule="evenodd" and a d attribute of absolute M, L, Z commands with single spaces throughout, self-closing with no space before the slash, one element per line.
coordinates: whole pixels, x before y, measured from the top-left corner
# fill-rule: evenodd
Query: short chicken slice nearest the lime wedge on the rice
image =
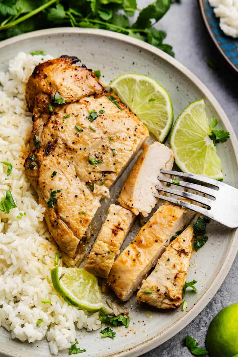
<path fill-rule="evenodd" d="M 123 241 L 134 221 L 131 211 L 114 204 L 110 205 L 105 221 L 94 242 L 84 269 L 107 278 Z"/>

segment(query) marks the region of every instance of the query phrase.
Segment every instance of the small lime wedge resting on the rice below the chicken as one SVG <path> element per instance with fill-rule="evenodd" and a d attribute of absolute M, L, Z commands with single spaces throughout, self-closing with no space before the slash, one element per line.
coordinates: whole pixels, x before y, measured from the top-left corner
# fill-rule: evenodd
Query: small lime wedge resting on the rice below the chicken
<path fill-rule="evenodd" d="M 51 279 L 57 293 L 70 305 L 88 311 L 102 307 L 102 297 L 97 278 L 84 269 L 56 267 Z"/>

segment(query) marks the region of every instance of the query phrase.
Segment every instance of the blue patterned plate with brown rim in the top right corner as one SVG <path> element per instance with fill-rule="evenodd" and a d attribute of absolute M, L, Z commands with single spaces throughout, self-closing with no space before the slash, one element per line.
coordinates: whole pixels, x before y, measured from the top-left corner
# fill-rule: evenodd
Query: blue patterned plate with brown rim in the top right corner
<path fill-rule="evenodd" d="M 229 65 L 238 72 L 238 39 L 233 39 L 223 33 L 219 27 L 219 18 L 215 16 L 213 7 L 208 0 L 198 0 L 202 18 L 213 42 L 227 60 Z"/>

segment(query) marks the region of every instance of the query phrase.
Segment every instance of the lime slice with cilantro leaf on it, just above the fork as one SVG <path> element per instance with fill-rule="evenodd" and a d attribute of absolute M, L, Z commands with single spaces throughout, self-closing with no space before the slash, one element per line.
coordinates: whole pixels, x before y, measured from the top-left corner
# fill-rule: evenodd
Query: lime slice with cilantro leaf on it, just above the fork
<path fill-rule="evenodd" d="M 209 138 L 204 100 L 189 104 L 174 123 L 170 145 L 179 168 L 190 174 L 222 180 L 222 163 Z"/>

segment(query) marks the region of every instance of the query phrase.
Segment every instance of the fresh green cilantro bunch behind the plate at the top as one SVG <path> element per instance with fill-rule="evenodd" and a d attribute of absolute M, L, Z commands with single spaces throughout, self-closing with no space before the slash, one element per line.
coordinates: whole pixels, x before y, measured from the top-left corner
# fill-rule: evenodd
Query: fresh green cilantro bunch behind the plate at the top
<path fill-rule="evenodd" d="M 156 0 L 140 11 L 136 0 L 0 0 L 0 40 L 48 27 L 91 27 L 120 32 L 174 56 L 164 31 L 153 27 L 171 0 Z M 120 10 L 120 13 L 118 12 Z M 138 13 L 131 24 L 129 17 Z"/>

